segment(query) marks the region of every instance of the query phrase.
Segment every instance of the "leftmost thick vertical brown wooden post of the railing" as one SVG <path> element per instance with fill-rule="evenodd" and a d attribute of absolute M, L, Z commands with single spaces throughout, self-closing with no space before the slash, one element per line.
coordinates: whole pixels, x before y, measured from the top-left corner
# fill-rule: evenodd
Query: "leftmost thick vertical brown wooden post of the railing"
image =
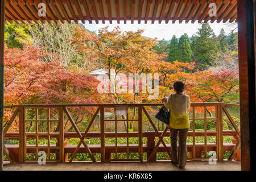
<path fill-rule="evenodd" d="M 24 163 L 26 160 L 26 156 L 24 156 L 26 148 L 26 139 L 25 139 L 25 123 L 24 123 L 24 106 L 19 105 L 19 163 Z"/>

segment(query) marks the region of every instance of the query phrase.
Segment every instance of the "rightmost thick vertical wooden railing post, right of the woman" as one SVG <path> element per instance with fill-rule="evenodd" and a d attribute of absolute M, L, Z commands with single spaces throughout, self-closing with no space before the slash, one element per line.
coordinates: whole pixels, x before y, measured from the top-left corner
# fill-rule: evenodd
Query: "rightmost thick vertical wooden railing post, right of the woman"
<path fill-rule="evenodd" d="M 217 105 L 217 158 L 218 160 L 223 160 L 223 125 L 222 125 L 222 105 Z"/>

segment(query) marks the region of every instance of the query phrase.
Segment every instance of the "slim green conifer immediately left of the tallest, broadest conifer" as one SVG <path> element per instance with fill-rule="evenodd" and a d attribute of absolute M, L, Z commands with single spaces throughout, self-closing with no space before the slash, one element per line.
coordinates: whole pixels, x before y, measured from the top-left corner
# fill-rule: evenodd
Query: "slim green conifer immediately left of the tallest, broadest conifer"
<path fill-rule="evenodd" d="M 191 47 L 188 35 L 185 33 L 179 39 L 180 57 L 179 60 L 191 63 Z"/>

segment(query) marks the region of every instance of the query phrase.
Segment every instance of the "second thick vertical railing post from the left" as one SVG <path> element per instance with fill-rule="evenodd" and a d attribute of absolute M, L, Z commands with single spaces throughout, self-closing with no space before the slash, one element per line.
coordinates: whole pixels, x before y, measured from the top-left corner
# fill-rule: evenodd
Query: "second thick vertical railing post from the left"
<path fill-rule="evenodd" d="M 64 158 L 64 108 L 60 107 L 60 123 L 59 123 L 59 145 L 60 145 L 60 162 L 65 162 Z"/>

